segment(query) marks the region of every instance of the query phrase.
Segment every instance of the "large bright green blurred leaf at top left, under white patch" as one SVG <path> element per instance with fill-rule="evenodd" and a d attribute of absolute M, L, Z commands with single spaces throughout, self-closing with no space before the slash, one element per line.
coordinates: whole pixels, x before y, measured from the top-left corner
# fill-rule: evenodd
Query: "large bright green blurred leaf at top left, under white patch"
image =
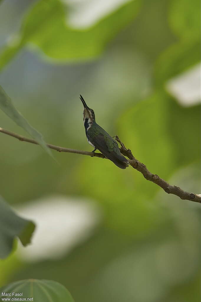
<path fill-rule="evenodd" d="M 133 20 L 140 0 L 126 3 L 115 12 L 85 30 L 66 24 L 65 7 L 59 0 L 40 0 L 23 21 L 20 36 L 0 55 L 0 69 L 27 43 L 34 43 L 47 56 L 77 61 L 99 56 L 121 28 Z"/>

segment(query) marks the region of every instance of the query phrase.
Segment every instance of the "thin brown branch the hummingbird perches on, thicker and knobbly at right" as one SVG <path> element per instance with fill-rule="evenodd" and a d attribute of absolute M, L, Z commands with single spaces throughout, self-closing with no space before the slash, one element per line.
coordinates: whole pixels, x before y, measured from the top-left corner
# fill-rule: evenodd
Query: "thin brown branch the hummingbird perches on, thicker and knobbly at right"
<path fill-rule="evenodd" d="M 17 133 L 5 130 L 1 127 L 0 127 L 0 132 L 5 133 L 7 135 L 10 135 L 12 137 L 15 137 L 20 141 L 24 141 L 24 142 L 27 142 L 27 143 L 32 143 L 32 144 L 38 145 L 36 140 L 33 140 L 33 139 L 30 139 L 30 138 L 24 137 L 22 135 L 19 135 Z M 168 184 L 168 182 L 166 182 L 164 179 L 160 178 L 158 175 L 152 174 L 151 172 L 149 172 L 146 165 L 144 165 L 142 162 L 139 162 L 139 160 L 137 160 L 133 156 L 130 149 L 127 149 L 124 146 L 124 144 L 121 142 L 121 140 L 118 138 L 117 135 L 115 136 L 115 140 L 117 140 L 118 143 L 120 143 L 120 145 L 121 145 L 121 148 L 120 148 L 121 153 L 124 156 L 127 156 L 129 158 L 128 159 L 129 164 L 134 169 L 136 169 L 137 171 L 142 173 L 144 178 L 146 178 L 146 180 L 149 180 L 150 182 L 155 183 L 156 185 L 161 187 L 168 194 L 174 194 L 174 195 L 180 197 L 181 199 L 201 203 L 201 194 L 194 194 L 194 193 L 186 192 L 186 191 L 182 190 L 179 187 L 172 186 L 172 185 Z M 106 158 L 102 153 L 93 153 L 93 152 L 87 152 L 87 151 L 82 151 L 82 150 L 69 149 L 69 148 L 59 147 L 59 146 L 55 146 L 55 145 L 51 145 L 51 144 L 47 144 L 47 146 L 50 149 L 56 150 L 58 152 L 68 152 L 68 153 L 76 153 L 76 154 L 83 154 L 83 155 L 95 156 L 95 157 L 100 157 L 100 158 Z"/>

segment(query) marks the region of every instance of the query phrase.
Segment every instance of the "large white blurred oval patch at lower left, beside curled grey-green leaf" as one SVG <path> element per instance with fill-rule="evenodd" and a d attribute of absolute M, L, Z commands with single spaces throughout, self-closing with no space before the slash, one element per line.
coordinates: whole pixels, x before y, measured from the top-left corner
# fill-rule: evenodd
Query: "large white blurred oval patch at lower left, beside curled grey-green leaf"
<path fill-rule="evenodd" d="M 54 196 L 32 201 L 17 208 L 21 217 L 36 223 L 32 243 L 18 246 L 18 256 L 27 261 L 57 259 L 86 240 L 100 221 L 90 202 Z"/>

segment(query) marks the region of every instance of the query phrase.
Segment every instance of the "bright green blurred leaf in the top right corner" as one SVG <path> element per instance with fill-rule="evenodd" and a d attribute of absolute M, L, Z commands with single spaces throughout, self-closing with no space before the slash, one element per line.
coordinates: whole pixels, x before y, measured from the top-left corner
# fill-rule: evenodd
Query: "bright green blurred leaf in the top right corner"
<path fill-rule="evenodd" d="M 181 38 L 200 37 L 200 1 L 171 1 L 169 23 L 174 33 Z"/>

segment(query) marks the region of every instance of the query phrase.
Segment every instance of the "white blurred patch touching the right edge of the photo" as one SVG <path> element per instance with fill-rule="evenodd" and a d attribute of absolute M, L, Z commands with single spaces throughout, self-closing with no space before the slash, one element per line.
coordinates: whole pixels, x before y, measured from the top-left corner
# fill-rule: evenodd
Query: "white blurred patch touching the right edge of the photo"
<path fill-rule="evenodd" d="M 183 106 L 192 106 L 200 102 L 200 64 L 187 72 L 169 80 L 166 84 L 170 92 Z"/>

